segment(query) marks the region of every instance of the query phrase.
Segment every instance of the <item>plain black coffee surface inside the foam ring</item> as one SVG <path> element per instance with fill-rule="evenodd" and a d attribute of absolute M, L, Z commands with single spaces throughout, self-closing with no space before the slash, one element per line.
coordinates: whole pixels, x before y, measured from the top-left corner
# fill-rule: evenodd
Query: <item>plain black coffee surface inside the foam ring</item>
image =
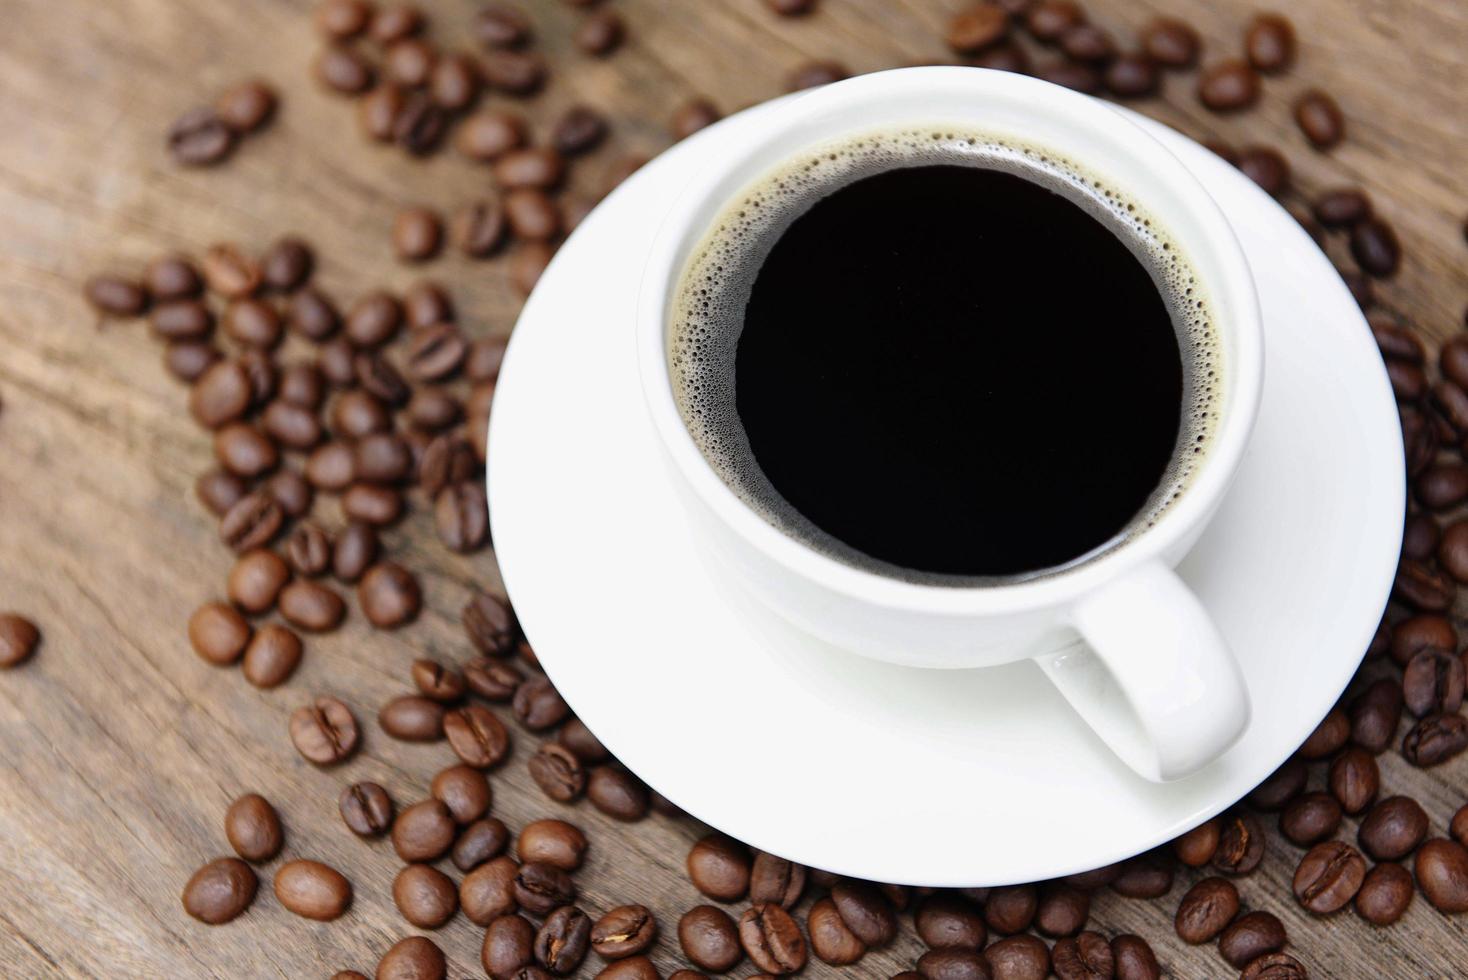
<path fill-rule="evenodd" d="M 944 575 L 1104 544 L 1161 483 L 1182 421 L 1169 305 L 1079 205 L 922 166 L 818 201 L 759 270 L 735 406 L 818 528 Z"/>

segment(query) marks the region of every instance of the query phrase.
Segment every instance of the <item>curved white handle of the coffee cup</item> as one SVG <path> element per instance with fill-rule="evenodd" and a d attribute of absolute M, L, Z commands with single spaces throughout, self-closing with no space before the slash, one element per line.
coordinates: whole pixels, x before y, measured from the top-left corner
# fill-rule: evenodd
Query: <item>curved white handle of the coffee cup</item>
<path fill-rule="evenodd" d="M 1101 739 L 1139 776 L 1180 779 L 1249 722 L 1233 653 L 1177 572 L 1151 560 L 1070 609 L 1085 644 L 1036 659 Z"/>

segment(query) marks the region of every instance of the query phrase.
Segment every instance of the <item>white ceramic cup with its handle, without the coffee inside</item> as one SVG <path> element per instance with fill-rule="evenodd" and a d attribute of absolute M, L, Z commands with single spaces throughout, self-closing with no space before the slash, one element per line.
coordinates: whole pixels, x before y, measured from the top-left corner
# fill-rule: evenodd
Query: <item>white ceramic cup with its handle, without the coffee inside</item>
<path fill-rule="evenodd" d="M 1104 103 L 970 67 L 865 75 L 768 110 L 762 135 L 696 176 L 647 260 L 637 356 L 653 424 L 693 530 L 796 626 L 881 660 L 982 668 L 1033 659 L 1141 776 L 1169 780 L 1217 758 L 1249 720 L 1233 654 L 1173 566 L 1217 511 L 1243 456 L 1264 349 L 1249 267 L 1223 213 L 1161 144 Z M 1183 494 L 1117 547 L 1026 581 L 950 587 L 834 559 L 747 506 L 684 425 L 669 376 L 669 307 L 691 249 L 740 191 L 800 151 L 844 136 L 957 126 L 1047 147 L 1120 188 L 1166 224 L 1207 290 L 1220 343 L 1220 420 Z"/>

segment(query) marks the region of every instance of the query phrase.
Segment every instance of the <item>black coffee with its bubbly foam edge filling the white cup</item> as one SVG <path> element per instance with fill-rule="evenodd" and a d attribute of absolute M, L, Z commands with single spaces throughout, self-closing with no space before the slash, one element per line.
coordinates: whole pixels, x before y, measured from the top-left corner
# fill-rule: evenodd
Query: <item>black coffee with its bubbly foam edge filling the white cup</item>
<path fill-rule="evenodd" d="M 1023 151 L 863 145 L 762 182 L 690 266 L 671 356 L 711 462 L 907 577 L 1050 569 L 1145 527 L 1213 412 L 1171 246 Z"/>

